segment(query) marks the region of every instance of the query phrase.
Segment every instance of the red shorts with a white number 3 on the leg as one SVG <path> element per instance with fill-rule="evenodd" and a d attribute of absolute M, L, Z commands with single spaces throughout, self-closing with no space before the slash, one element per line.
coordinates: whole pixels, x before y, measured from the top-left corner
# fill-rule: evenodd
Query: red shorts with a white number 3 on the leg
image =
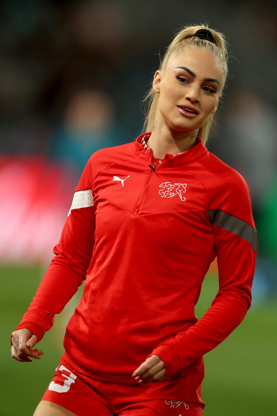
<path fill-rule="evenodd" d="M 202 416 L 200 404 L 167 397 L 170 381 L 113 383 L 71 371 L 59 364 L 41 400 L 63 406 L 78 416 Z M 164 399 L 151 399 L 155 385 L 164 384 Z"/>

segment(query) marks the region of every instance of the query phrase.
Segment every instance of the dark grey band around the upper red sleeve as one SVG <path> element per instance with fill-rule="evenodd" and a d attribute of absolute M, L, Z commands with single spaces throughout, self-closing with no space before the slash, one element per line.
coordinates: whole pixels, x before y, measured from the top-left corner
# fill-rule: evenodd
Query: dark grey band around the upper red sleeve
<path fill-rule="evenodd" d="M 252 249 L 256 251 L 257 232 L 251 225 L 221 210 L 208 210 L 208 216 L 211 223 L 215 223 L 219 228 L 237 234 L 244 240 L 249 241 Z"/>

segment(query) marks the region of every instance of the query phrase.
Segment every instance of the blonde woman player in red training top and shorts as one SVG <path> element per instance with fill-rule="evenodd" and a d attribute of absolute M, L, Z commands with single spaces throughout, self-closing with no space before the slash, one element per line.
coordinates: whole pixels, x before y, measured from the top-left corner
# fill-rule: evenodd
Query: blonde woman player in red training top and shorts
<path fill-rule="evenodd" d="M 147 132 L 88 159 L 12 332 L 12 357 L 39 359 L 34 345 L 85 280 L 35 416 L 202 415 L 203 354 L 245 317 L 256 258 L 249 188 L 205 146 L 227 72 L 224 36 L 184 27 L 154 74 Z M 219 290 L 198 321 L 216 256 Z"/>

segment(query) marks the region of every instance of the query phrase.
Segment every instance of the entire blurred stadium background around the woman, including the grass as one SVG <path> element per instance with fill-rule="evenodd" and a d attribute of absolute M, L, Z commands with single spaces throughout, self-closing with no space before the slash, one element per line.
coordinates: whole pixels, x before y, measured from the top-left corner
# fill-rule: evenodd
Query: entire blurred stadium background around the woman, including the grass
<path fill-rule="evenodd" d="M 82 287 L 37 344 L 32 364 L 11 358 L 10 334 L 54 257 L 73 192 L 89 156 L 135 140 L 142 96 L 159 53 L 186 24 L 208 22 L 230 45 L 230 77 L 209 151 L 238 170 L 257 228 L 252 306 L 243 323 L 206 354 L 205 416 L 276 411 L 277 139 L 276 7 L 226 0 L 0 3 L 0 414 L 32 415 L 63 352 Z M 218 289 L 216 261 L 196 306 Z"/>

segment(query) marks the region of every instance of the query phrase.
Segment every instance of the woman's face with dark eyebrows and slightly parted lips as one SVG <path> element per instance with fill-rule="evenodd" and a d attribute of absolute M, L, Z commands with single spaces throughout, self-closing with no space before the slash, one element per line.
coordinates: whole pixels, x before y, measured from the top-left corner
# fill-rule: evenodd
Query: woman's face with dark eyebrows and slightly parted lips
<path fill-rule="evenodd" d="M 213 52 L 194 49 L 171 57 L 167 68 L 154 74 L 153 88 L 160 94 L 156 114 L 159 125 L 162 121 L 175 131 L 200 129 L 215 113 L 222 87 L 222 64 Z M 193 106 L 199 114 L 184 116 L 177 107 L 180 105 Z"/>

